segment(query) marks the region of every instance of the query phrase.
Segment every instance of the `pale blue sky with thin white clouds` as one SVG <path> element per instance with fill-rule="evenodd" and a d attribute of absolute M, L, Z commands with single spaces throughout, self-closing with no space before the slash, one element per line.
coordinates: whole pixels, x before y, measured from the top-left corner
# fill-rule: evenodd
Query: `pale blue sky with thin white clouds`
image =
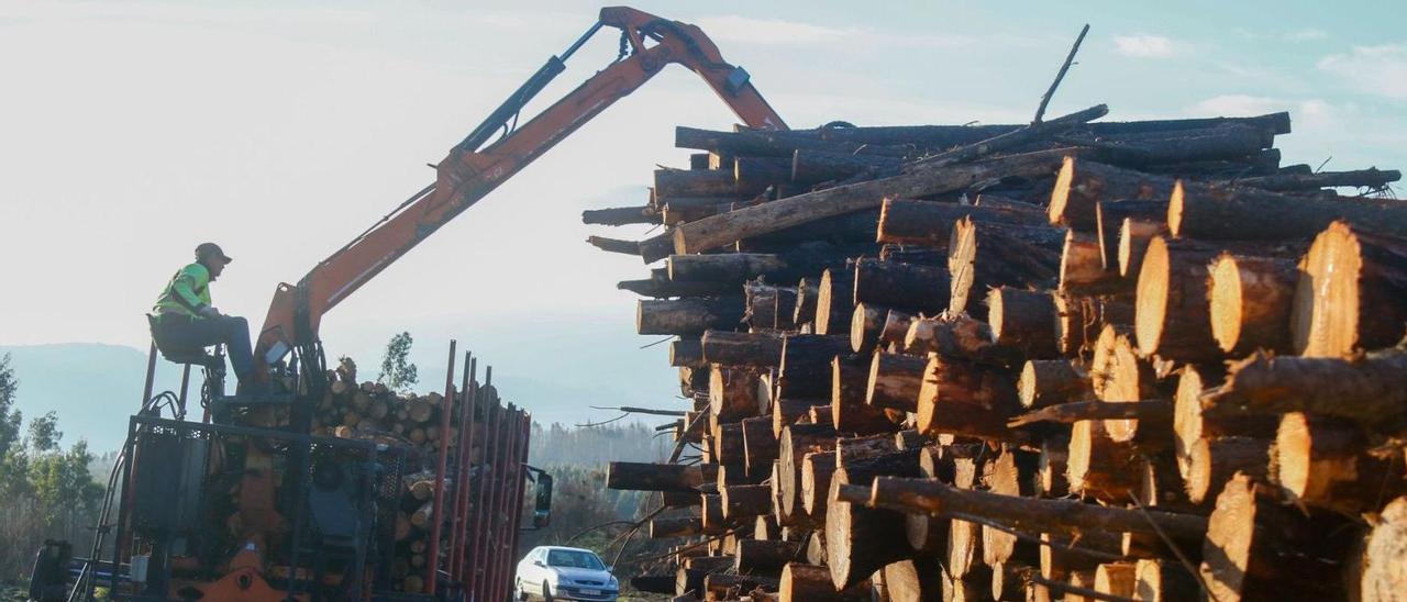
<path fill-rule="evenodd" d="M 1407 4 L 1339 1 L 640 1 L 694 23 L 794 128 L 1029 121 L 1082 24 L 1048 115 L 1110 120 L 1287 110 L 1286 163 L 1407 166 Z M 196 243 L 235 257 L 215 305 L 257 324 L 279 281 L 433 179 L 439 162 L 595 20 L 584 1 L 0 0 L 0 345 L 146 347 L 142 314 Z M 533 113 L 615 58 L 598 35 Z M 592 207 L 646 200 L 687 166 L 675 125 L 736 120 L 668 68 L 336 307 L 329 354 L 363 364 L 416 338 L 426 381 L 447 339 L 519 402 L 667 405 L 664 346 L 633 333 Z M 542 387 L 545 383 L 552 387 Z M 535 384 L 529 387 L 528 384 Z M 542 392 L 547 391 L 547 392 Z M 514 398 L 505 388 L 505 397 Z"/>

